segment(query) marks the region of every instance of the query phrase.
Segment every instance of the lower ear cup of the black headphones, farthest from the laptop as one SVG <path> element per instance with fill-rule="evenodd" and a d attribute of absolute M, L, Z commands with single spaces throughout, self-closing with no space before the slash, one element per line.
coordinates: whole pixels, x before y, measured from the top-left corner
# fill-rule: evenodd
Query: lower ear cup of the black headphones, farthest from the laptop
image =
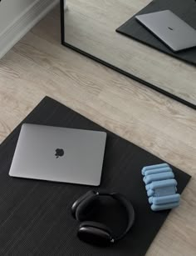
<path fill-rule="evenodd" d="M 77 235 L 82 241 L 99 246 L 107 246 L 112 240 L 110 228 L 93 221 L 81 223 Z"/>

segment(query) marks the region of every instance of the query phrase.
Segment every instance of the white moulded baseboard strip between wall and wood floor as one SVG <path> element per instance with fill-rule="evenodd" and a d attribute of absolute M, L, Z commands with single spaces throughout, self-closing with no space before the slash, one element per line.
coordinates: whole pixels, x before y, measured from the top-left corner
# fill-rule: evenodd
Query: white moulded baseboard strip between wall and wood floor
<path fill-rule="evenodd" d="M 4 56 L 59 0 L 37 0 L 0 34 L 0 58 Z M 60 15 L 60 11 L 59 11 Z"/>

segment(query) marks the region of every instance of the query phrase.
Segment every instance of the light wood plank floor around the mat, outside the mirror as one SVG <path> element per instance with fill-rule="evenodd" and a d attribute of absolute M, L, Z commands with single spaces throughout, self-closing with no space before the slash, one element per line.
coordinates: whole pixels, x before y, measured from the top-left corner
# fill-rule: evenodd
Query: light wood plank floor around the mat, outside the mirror
<path fill-rule="evenodd" d="M 45 95 L 193 175 L 147 254 L 194 256 L 196 112 L 62 47 L 59 7 L 0 60 L 0 142 Z"/>

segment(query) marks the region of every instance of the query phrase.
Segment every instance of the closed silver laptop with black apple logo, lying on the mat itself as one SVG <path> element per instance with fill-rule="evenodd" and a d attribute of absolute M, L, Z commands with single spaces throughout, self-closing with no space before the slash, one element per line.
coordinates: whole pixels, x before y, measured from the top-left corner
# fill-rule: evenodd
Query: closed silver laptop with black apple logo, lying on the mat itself
<path fill-rule="evenodd" d="M 106 133 L 23 124 L 9 175 L 100 185 Z"/>

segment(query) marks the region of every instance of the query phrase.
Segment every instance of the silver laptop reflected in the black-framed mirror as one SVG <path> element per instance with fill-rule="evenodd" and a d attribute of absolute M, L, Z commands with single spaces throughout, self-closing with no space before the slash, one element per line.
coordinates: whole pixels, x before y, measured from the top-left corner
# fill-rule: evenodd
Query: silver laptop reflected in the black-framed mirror
<path fill-rule="evenodd" d="M 196 30 L 169 10 L 135 18 L 174 52 L 196 46 Z"/>

